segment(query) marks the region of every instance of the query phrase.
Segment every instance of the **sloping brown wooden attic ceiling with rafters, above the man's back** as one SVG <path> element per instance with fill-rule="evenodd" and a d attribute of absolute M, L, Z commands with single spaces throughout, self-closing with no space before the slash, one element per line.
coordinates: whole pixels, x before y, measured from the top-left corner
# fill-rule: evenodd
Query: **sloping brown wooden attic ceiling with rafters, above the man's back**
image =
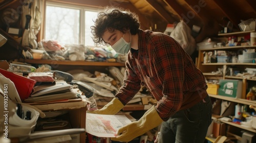
<path fill-rule="evenodd" d="M 227 22 L 233 24 L 233 31 L 240 31 L 241 20 L 256 18 L 255 0 L 127 0 L 148 18 L 154 18 L 159 25 L 179 22 L 183 19 L 191 28 L 201 27 L 196 38 L 216 36 Z M 164 29 L 163 29 L 164 28 Z M 162 27 L 160 31 L 164 31 Z"/>

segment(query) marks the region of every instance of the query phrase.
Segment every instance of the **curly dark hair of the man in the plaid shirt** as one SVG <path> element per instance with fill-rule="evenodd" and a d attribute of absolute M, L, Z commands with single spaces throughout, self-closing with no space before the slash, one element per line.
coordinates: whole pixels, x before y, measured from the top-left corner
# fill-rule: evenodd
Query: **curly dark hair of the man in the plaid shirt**
<path fill-rule="evenodd" d="M 132 35 L 137 34 L 140 28 L 139 16 L 130 10 L 124 10 L 120 7 L 103 7 L 95 19 L 94 26 L 91 26 L 93 41 L 95 45 L 107 45 L 101 38 L 106 30 L 113 32 L 119 30 L 125 33 L 130 30 Z"/>

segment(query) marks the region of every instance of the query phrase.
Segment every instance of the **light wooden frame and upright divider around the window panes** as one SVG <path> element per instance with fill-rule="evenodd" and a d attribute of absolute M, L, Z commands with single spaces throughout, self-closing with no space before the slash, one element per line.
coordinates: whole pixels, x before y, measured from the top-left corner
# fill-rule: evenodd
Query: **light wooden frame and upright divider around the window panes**
<path fill-rule="evenodd" d="M 92 12 L 98 12 L 98 9 L 95 7 L 89 7 L 89 6 L 78 6 L 75 4 L 67 4 L 67 3 L 61 3 L 61 2 L 52 2 L 52 1 L 46 1 L 45 8 L 44 8 L 44 27 L 42 39 L 45 39 L 46 36 L 46 8 L 47 6 L 53 6 L 53 7 L 61 7 L 61 8 L 70 8 L 70 9 L 76 9 L 80 10 L 79 12 L 79 38 L 78 38 L 78 44 L 86 45 L 86 17 L 85 12 L 86 11 L 92 11 Z M 91 32 L 91 31 L 90 31 Z"/>

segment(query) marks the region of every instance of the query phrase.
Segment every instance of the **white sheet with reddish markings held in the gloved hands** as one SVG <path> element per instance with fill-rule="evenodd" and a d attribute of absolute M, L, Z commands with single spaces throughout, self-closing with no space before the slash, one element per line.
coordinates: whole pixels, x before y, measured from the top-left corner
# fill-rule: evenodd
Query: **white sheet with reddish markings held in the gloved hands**
<path fill-rule="evenodd" d="M 86 114 L 86 132 L 98 137 L 115 137 L 116 131 L 129 123 L 125 115 Z"/>

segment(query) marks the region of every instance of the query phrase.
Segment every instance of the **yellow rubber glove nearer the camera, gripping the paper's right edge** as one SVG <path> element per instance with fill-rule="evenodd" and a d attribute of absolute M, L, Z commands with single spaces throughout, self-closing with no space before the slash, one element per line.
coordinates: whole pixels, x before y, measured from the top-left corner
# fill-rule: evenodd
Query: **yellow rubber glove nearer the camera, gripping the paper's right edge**
<path fill-rule="evenodd" d="M 137 136 L 143 135 L 145 132 L 157 127 L 163 122 L 158 115 L 155 106 L 148 109 L 138 121 L 134 121 L 121 127 L 117 131 L 117 136 L 112 137 L 114 141 L 129 142 Z"/>

